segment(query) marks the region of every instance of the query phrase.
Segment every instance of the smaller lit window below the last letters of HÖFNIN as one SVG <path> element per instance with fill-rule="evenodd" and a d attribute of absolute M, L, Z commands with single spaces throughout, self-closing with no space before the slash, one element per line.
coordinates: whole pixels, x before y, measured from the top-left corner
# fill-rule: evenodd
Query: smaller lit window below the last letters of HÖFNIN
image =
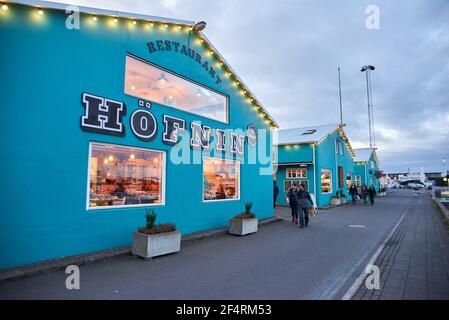
<path fill-rule="evenodd" d="M 219 158 L 203 159 L 203 201 L 240 198 L 240 162 Z"/>

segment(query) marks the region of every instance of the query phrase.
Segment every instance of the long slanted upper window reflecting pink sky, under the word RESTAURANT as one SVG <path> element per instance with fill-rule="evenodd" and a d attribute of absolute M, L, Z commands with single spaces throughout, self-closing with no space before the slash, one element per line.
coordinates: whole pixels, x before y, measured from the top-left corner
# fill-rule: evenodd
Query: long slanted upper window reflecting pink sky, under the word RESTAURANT
<path fill-rule="evenodd" d="M 131 56 L 126 56 L 125 93 L 228 122 L 226 96 Z"/>

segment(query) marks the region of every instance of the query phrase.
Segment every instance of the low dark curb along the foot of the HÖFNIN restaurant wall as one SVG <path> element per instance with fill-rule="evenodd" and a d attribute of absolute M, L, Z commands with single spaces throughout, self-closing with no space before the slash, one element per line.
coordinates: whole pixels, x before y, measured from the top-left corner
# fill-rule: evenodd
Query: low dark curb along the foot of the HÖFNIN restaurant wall
<path fill-rule="evenodd" d="M 260 220 L 259 226 L 265 226 L 280 221 L 282 221 L 282 219 L 278 217 L 267 218 Z M 183 236 L 181 238 L 181 242 L 204 240 L 214 236 L 225 235 L 227 232 L 228 228 L 195 232 Z M 131 247 L 120 247 L 76 256 L 44 260 L 38 263 L 22 265 L 12 269 L 0 271 L 0 284 L 6 281 L 24 279 L 49 272 L 61 271 L 69 265 L 77 265 L 78 267 L 81 267 L 88 264 L 105 262 L 114 258 L 130 255 Z"/>

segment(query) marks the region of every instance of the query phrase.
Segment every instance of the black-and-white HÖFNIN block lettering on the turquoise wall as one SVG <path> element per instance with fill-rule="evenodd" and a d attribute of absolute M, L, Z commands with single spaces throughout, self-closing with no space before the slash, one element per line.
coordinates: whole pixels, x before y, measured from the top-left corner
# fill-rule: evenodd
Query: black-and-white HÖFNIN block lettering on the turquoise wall
<path fill-rule="evenodd" d="M 84 107 L 84 114 L 80 118 L 82 130 L 125 136 L 126 128 L 123 116 L 126 115 L 126 106 L 123 102 L 89 93 L 82 94 L 81 102 Z M 153 141 L 158 132 L 158 121 L 149 110 L 151 102 L 139 100 L 138 104 L 143 108 L 138 108 L 131 114 L 131 131 L 141 141 Z M 163 125 L 162 142 L 166 145 L 176 145 L 179 142 L 179 136 L 187 130 L 190 130 L 190 147 L 192 149 L 208 151 L 213 139 L 216 151 L 228 151 L 231 155 L 243 156 L 246 141 L 251 147 L 255 147 L 257 144 L 257 128 L 252 124 L 248 125 L 246 134 L 243 135 L 230 130 L 213 129 L 196 121 L 192 121 L 189 125 L 185 119 L 164 114 Z M 229 148 L 226 145 L 228 135 L 230 138 Z"/>

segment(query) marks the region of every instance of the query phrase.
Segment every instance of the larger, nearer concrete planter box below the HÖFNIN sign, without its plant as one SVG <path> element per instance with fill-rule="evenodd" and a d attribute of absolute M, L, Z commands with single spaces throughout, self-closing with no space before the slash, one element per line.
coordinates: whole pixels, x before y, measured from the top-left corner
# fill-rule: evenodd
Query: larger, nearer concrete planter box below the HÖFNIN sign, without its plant
<path fill-rule="evenodd" d="M 134 232 L 132 254 L 142 258 L 152 258 L 181 250 L 181 232 L 159 234 Z"/>

